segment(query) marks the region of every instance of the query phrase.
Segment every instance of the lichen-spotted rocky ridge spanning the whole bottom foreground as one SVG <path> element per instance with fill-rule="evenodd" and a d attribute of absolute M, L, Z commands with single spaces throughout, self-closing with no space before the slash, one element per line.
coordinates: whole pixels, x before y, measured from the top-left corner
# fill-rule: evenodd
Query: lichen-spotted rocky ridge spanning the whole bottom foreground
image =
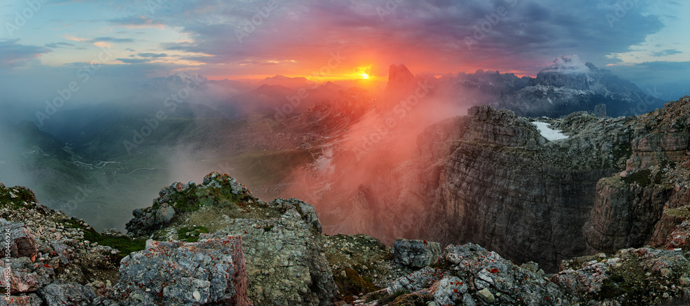
<path fill-rule="evenodd" d="M 0 184 L 1 305 L 653 305 L 690 303 L 690 223 L 662 249 L 563 261 L 546 274 L 479 245 L 328 236 L 314 207 L 269 203 L 225 174 L 174 183 L 97 233 Z M 8 280 L 1 278 L 2 285 Z M 674 304 L 675 303 L 675 304 Z"/>

